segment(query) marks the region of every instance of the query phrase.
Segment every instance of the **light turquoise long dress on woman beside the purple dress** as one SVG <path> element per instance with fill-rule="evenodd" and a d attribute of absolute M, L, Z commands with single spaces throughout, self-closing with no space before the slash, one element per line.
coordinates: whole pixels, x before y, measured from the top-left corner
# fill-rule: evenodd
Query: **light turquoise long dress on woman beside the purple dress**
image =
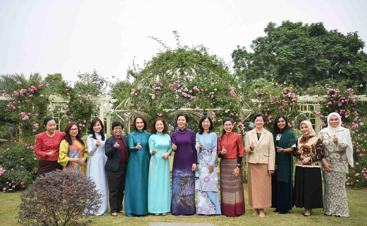
<path fill-rule="evenodd" d="M 148 212 L 162 214 L 171 210 L 170 159 L 162 155 L 172 153 L 171 137 L 168 134 L 156 133 L 149 137 L 149 152 L 153 148 L 157 153 L 152 155 L 149 164 Z"/>

